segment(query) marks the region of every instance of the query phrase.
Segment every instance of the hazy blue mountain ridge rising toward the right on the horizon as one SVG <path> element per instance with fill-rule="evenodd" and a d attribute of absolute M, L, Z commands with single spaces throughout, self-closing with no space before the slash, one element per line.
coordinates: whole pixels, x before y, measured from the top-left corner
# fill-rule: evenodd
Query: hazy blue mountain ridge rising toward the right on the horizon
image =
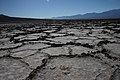
<path fill-rule="evenodd" d="M 120 18 L 120 9 L 113 9 L 102 13 L 86 13 L 73 16 L 53 17 L 53 19 L 108 19 Z"/>

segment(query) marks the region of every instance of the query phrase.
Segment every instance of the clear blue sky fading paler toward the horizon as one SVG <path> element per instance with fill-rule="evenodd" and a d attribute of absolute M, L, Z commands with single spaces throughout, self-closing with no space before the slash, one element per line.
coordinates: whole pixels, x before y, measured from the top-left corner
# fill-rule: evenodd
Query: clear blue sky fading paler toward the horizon
<path fill-rule="evenodd" d="M 120 9 L 120 0 L 0 0 L 0 14 L 51 18 Z"/>

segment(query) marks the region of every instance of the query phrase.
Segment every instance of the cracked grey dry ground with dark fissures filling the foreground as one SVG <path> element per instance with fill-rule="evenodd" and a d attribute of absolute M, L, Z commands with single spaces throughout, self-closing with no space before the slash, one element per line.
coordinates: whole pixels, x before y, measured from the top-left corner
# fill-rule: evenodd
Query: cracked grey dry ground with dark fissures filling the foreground
<path fill-rule="evenodd" d="M 0 80 L 120 80 L 119 27 L 0 26 Z"/>

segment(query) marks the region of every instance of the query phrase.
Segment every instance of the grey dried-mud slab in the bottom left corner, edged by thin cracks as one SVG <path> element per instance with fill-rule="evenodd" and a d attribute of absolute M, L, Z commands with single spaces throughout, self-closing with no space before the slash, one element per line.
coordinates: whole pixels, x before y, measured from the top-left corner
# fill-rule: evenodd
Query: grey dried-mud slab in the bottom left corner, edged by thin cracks
<path fill-rule="evenodd" d="M 12 58 L 0 59 L 0 79 L 1 80 L 22 80 L 25 79 L 32 70 L 19 60 Z"/>

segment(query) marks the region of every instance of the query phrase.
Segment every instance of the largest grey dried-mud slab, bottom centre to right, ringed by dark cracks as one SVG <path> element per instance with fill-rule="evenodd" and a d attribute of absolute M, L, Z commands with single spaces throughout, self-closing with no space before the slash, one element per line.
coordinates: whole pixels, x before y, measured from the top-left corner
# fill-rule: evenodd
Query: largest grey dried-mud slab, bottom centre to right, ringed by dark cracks
<path fill-rule="evenodd" d="M 91 57 L 60 57 L 50 60 L 34 80 L 109 80 L 112 72 L 110 66 Z"/>

